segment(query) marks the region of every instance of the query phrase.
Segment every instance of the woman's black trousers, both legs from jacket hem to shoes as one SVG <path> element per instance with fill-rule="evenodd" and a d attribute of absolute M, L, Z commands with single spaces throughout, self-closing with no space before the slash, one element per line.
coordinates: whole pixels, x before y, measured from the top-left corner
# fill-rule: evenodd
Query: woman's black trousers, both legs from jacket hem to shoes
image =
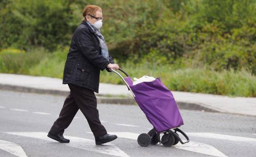
<path fill-rule="evenodd" d="M 66 97 L 59 118 L 53 123 L 50 132 L 63 134 L 72 122 L 78 109 L 85 115 L 94 137 L 107 133 L 99 119 L 97 100 L 93 91 L 69 84 L 70 94 Z"/>

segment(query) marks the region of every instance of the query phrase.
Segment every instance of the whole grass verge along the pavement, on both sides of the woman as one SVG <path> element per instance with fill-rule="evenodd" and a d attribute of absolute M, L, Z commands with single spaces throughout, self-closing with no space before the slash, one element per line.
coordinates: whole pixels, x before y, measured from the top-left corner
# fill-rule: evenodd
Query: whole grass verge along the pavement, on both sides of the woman
<path fill-rule="evenodd" d="M 42 49 L 27 53 L 0 54 L 0 73 L 18 73 L 26 75 L 62 78 L 68 48 L 53 53 Z M 152 66 L 149 63 L 135 64 L 132 61 L 119 66 L 133 77 L 143 75 L 160 77 L 172 91 L 209 93 L 217 95 L 256 97 L 256 76 L 241 71 L 211 71 L 206 68 L 177 69 L 172 65 Z M 101 72 L 100 82 L 124 84 L 115 73 Z"/>

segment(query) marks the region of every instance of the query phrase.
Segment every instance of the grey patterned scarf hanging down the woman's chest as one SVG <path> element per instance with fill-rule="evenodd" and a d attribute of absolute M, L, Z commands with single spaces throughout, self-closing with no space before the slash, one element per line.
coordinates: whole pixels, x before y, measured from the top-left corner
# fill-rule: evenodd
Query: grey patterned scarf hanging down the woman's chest
<path fill-rule="evenodd" d="M 93 25 L 88 21 L 87 21 L 87 24 L 91 27 L 91 29 L 94 31 L 94 34 L 98 37 L 98 40 L 100 42 L 100 47 L 101 47 L 101 55 L 103 55 L 103 57 L 109 61 L 107 44 L 104 40 L 103 35 L 101 34 L 101 31 L 99 29 L 94 28 Z"/>

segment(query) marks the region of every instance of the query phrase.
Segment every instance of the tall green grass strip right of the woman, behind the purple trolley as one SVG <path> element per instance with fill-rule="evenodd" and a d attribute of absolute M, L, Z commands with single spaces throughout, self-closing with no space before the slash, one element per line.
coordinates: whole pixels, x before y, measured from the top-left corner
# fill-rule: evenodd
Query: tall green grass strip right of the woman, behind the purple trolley
<path fill-rule="evenodd" d="M 186 91 L 228 96 L 256 97 L 256 76 L 246 70 L 242 71 L 209 71 L 207 69 L 172 69 L 162 66 L 158 69 L 145 66 L 123 66 L 130 77 L 143 75 L 160 77 L 162 82 L 172 91 Z M 123 84 L 121 78 L 104 71 L 101 82 Z"/>

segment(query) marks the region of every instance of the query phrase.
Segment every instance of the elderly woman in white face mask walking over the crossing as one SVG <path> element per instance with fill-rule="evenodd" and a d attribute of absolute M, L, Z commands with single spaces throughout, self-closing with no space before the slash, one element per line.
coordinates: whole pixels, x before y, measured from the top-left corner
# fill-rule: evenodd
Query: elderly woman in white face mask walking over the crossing
<path fill-rule="evenodd" d="M 109 135 L 101 124 L 97 110 L 100 70 L 119 69 L 114 64 L 101 34 L 102 10 L 95 5 L 87 5 L 83 10 L 84 20 L 73 34 L 64 68 L 63 84 L 68 84 L 70 94 L 66 97 L 59 118 L 51 127 L 48 137 L 62 143 L 69 143 L 63 137 L 78 109 L 87 119 L 94 134 L 96 144 L 110 142 L 117 138 Z"/>

